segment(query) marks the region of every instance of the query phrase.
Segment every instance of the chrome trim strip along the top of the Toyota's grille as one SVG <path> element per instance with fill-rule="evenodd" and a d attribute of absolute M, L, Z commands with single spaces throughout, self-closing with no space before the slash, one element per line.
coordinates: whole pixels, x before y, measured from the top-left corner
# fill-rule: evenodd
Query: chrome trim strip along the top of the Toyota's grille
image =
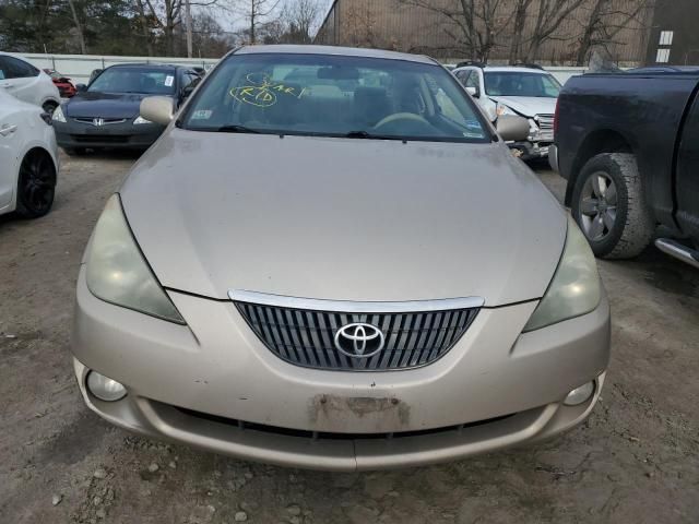
<path fill-rule="evenodd" d="M 439 298 L 435 300 L 407 300 L 401 302 L 327 300 L 322 298 L 300 298 L 269 293 L 248 291 L 246 289 L 230 289 L 230 300 L 236 302 L 259 303 L 261 306 L 276 306 L 280 308 L 311 309 L 316 311 L 336 311 L 343 313 L 411 313 L 447 311 L 450 309 L 482 308 L 485 299 L 482 297 Z"/>

